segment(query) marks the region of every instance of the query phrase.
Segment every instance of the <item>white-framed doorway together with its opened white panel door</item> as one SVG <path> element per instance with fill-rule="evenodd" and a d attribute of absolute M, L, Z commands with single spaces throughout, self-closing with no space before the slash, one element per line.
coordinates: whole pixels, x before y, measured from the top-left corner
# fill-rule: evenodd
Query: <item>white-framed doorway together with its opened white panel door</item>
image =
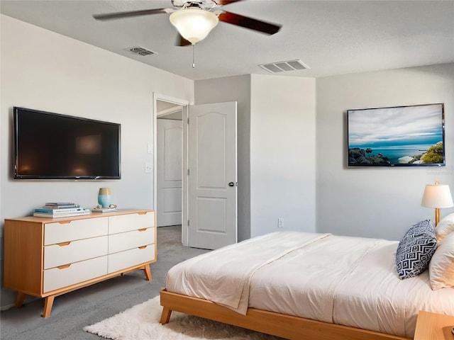
<path fill-rule="evenodd" d="M 153 98 L 157 226 L 179 219 L 184 246 L 217 249 L 236 243 L 237 103 L 189 106 L 167 96 Z M 165 119 L 174 115 L 182 120 Z M 175 149 L 181 156 L 174 157 Z M 163 222 L 166 214 L 177 216 L 175 222 Z"/>

